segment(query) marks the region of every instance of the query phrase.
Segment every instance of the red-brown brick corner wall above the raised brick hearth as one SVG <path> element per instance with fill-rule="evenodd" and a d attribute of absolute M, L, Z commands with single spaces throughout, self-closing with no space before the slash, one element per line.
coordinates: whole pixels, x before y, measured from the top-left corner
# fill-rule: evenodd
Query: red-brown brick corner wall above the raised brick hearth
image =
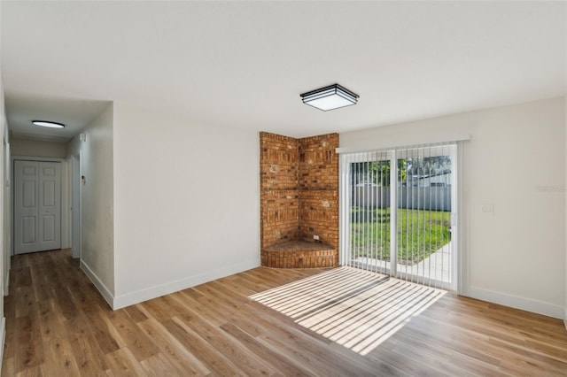
<path fill-rule="evenodd" d="M 338 134 L 260 133 L 261 248 L 300 240 L 338 250 Z"/>

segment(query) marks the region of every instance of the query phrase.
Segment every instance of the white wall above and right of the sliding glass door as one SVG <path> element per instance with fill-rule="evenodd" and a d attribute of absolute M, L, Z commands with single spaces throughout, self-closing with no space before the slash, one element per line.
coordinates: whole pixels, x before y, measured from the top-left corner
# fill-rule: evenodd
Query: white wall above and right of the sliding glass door
<path fill-rule="evenodd" d="M 340 135 L 341 148 L 471 135 L 459 172 L 469 240 L 462 294 L 563 318 L 564 108 L 558 97 L 349 132 Z M 493 214 L 482 204 L 493 204 Z"/>

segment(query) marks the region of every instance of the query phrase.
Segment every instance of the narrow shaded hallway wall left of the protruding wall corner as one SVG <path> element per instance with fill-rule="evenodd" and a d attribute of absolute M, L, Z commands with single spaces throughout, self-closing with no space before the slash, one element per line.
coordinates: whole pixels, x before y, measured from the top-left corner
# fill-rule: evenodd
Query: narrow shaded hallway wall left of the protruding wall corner
<path fill-rule="evenodd" d="M 109 304 L 114 295 L 113 105 L 84 129 L 85 142 L 68 145 L 69 157 L 81 150 L 83 271 Z M 78 138 L 75 136 L 75 138 Z"/>

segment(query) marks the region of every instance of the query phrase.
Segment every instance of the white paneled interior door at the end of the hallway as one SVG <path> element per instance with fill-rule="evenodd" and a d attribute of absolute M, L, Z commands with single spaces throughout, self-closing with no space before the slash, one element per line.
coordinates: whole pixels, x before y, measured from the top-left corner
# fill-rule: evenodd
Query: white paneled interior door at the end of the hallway
<path fill-rule="evenodd" d="M 61 248 L 61 164 L 14 161 L 14 253 Z"/>

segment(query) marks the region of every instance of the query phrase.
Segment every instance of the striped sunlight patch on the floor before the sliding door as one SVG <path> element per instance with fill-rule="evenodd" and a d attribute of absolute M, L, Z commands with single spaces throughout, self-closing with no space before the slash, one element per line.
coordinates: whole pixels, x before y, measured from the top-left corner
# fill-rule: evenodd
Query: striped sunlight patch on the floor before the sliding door
<path fill-rule="evenodd" d="M 445 293 L 379 273 L 339 267 L 250 298 L 366 355 Z"/>

